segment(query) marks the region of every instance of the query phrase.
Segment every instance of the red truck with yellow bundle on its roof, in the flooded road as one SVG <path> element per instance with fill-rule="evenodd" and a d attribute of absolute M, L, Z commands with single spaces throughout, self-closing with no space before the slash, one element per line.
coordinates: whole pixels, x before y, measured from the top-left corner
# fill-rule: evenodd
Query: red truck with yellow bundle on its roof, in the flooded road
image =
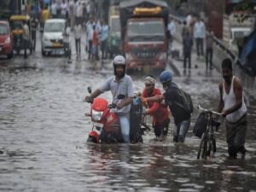
<path fill-rule="evenodd" d="M 131 0 L 119 3 L 122 49 L 127 69 L 162 71 L 167 63 L 166 2 Z"/>

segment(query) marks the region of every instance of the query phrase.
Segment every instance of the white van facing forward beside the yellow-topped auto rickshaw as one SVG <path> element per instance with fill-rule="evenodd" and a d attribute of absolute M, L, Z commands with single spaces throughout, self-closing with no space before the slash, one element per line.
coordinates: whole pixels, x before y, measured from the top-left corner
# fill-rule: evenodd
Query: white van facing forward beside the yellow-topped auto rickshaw
<path fill-rule="evenodd" d="M 42 37 L 42 55 L 61 51 L 64 53 L 63 33 L 65 32 L 66 20 L 49 19 L 45 21 Z"/>

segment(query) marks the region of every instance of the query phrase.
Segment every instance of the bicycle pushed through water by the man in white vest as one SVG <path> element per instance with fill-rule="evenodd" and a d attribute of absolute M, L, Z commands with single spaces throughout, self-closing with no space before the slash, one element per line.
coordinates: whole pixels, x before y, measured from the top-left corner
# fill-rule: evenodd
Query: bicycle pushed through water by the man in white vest
<path fill-rule="evenodd" d="M 220 125 L 218 121 L 215 121 L 212 118 L 212 114 L 221 116 L 221 113 L 210 111 L 206 108 L 201 108 L 200 105 L 198 106 L 198 108 L 206 113 L 207 127 L 201 136 L 201 143 L 199 145 L 197 159 L 200 159 L 201 157 L 202 159 L 207 160 L 207 157 L 212 156 L 217 151 L 216 139 L 214 136 L 214 127 L 216 128 L 216 131 L 218 131 L 218 127 Z"/>

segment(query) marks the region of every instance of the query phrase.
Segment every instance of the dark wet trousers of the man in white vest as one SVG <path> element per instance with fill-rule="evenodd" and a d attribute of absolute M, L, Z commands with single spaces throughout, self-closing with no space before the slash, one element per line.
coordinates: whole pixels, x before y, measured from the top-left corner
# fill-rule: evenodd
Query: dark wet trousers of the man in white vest
<path fill-rule="evenodd" d="M 247 115 L 242 116 L 236 123 L 230 123 L 226 120 L 225 125 L 230 156 L 236 157 L 238 152 L 245 154 L 246 148 L 244 143 L 247 134 Z"/>

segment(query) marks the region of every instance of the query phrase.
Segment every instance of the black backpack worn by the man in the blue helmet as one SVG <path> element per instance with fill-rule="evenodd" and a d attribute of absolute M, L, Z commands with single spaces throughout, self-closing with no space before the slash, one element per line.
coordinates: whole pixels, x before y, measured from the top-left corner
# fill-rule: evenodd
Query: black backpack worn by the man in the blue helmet
<path fill-rule="evenodd" d="M 194 105 L 192 102 L 192 98 L 189 93 L 177 87 L 177 84 L 172 84 L 172 87 L 176 88 L 179 95 L 182 97 L 183 103 L 174 102 L 180 108 L 183 108 L 187 113 L 194 112 Z"/>

